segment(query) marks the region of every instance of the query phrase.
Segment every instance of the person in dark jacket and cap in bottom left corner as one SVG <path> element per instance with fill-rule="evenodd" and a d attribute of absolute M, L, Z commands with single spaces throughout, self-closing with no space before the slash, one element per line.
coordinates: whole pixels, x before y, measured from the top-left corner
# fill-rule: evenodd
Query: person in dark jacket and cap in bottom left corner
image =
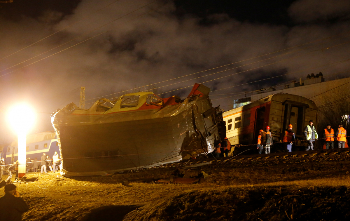
<path fill-rule="evenodd" d="M 1 220 L 21 221 L 22 213 L 28 211 L 27 203 L 20 198 L 14 184 L 6 184 L 5 195 L 0 198 Z"/>

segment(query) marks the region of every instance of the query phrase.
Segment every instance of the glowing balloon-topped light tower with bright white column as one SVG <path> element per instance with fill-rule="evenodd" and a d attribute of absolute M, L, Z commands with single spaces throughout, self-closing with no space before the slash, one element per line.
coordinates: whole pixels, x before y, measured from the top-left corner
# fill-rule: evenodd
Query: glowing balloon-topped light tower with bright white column
<path fill-rule="evenodd" d="M 16 104 L 8 110 L 7 119 L 18 135 L 18 177 L 26 175 L 26 136 L 34 125 L 35 112 L 27 104 Z"/>

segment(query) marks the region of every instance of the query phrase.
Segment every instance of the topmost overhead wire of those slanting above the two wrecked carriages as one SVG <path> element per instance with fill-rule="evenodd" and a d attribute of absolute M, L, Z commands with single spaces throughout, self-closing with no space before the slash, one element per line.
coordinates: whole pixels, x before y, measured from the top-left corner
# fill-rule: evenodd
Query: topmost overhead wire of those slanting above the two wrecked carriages
<path fill-rule="evenodd" d="M 176 77 L 176 78 L 171 78 L 171 79 L 168 79 L 168 80 L 165 80 L 165 81 L 160 81 L 160 82 L 156 82 L 156 83 L 152 83 L 152 84 L 144 85 L 144 86 L 137 87 L 137 88 L 133 88 L 133 89 L 128 89 L 128 90 L 124 90 L 124 91 L 119 91 L 119 92 L 116 92 L 116 93 L 113 93 L 113 94 L 104 95 L 104 96 L 100 96 L 100 97 L 106 97 L 106 96 L 110 96 L 110 95 L 114 95 L 114 94 L 119 94 L 119 93 L 123 93 L 123 92 L 130 91 L 130 90 L 135 90 L 135 89 L 139 89 L 139 88 L 148 87 L 148 86 L 150 86 L 150 85 L 154 85 L 154 84 L 159 84 L 159 83 L 163 83 L 163 82 L 167 82 L 167 81 L 172 81 L 172 80 L 175 80 L 175 79 L 178 79 L 178 78 L 181 78 L 181 77 L 187 77 L 187 76 L 190 76 L 190 75 L 198 74 L 198 73 L 205 72 L 205 71 L 209 71 L 209 70 L 214 70 L 214 69 L 217 69 L 217 68 L 221 68 L 221 67 L 225 67 L 225 66 L 228 66 L 228 65 L 236 64 L 236 63 L 239 63 L 239 62 L 244 62 L 244 61 L 252 60 L 252 59 L 254 59 L 254 58 L 258 58 L 258 57 L 262 57 L 262 56 L 266 56 L 266 55 L 270 55 L 270 54 L 278 53 L 278 52 L 281 52 L 281 51 L 284 51 L 284 50 L 288 50 L 288 49 L 292 49 L 292 48 L 296 48 L 296 47 L 304 46 L 304 45 L 306 45 L 306 44 L 314 43 L 314 42 L 317 42 L 317 41 L 323 41 L 323 40 L 330 39 L 330 38 L 335 37 L 335 36 L 339 36 L 339 35 L 347 34 L 347 33 L 349 33 L 349 32 L 350 32 L 350 31 L 348 31 L 348 32 L 344 32 L 344 33 L 340 33 L 340 34 L 337 34 L 337 35 L 332 35 L 332 36 L 329 36 L 329 37 L 326 37 L 326 38 L 323 38 L 323 39 L 317 39 L 317 40 L 315 40 L 315 41 L 311 41 L 311 42 L 303 43 L 303 44 L 300 44 L 300 45 L 297 45 L 297 46 L 293 46 L 293 47 L 289 47 L 289 48 L 285 48 L 285 49 L 282 49 L 282 50 L 277 50 L 277 51 L 274 51 L 274 52 L 271 52 L 271 53 L 267 53 L 267 54 L 264 54 L 264 55 L 259 55 L 259 56 L 255 56 L 255 57 L 247 58 L 247 59 L 245 59 L 245 60 L 241 60 L 241 61 L 233 62 L 233 63 L 230 63 L 230 64 L 221 65 L 221 66 L 218 66 L 218 67 L 215 67 L 215 68 L 206 69 L 206 70 L 199 71 L 199 72 L 195 72 L 195 73 L 192 73 L 192 74 L 183 75 L 183 76 Z M 320 44 L 322 44 L 322 43 L 320 43 Z M 316 44 L 316 45 L 319 45 L 319 44 Z M 316 46 L 316 45 L 314 45 L 314 46 Z M 313 46 L 310 46 L 310 47 L 313 47 Z M 100 97 L 90 98 L 90 99 L 87 99 L 87 100 L 85 100 L 85 101 L 89 101 L 89 100 L 97 99 L 97 98 L 100 98 Z"/>

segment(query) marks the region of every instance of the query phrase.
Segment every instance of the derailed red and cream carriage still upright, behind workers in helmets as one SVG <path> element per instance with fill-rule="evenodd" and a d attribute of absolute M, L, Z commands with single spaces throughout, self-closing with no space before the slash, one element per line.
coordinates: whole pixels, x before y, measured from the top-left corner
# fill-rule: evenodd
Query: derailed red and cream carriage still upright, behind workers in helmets
<path fill-rule="evenodd" d="M 314 120 L 316 127 L 317 110 L 313 101 L 291 94 L 273 94 L 254 101 L 239 108 L 223 113 L 226 123 L 226 137 L 228 137 L 234 152 L 247 151 L 255 153 L 257 137 L 260 129 L 268 125 L 272 134 L 274 145 L 271 151 L 286 151 L 279 143 L 284 130 L 289 124 L 293 125 L 296 140 L 303 140 L 303 130 L 309 120 Z M 240 145 L 251 145 L 241 146 Z M 255 147 L 255 148 L 254 148 Z M 304 150 L 305 143 L 296 141 L 293 150 Z"/>

